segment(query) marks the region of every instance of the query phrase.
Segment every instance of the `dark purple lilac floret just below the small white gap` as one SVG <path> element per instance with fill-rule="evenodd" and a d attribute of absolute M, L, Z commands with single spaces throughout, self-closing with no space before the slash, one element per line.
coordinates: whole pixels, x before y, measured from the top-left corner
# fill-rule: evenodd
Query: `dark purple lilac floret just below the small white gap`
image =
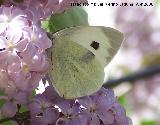
<path fill-rule="evenodd" d="M 29 105 L 31 111 L 31 123 L 53 124 L 59 117 L 58 110 L 54 104 L 46 100 L 41 94 L 36 95 Z"/>

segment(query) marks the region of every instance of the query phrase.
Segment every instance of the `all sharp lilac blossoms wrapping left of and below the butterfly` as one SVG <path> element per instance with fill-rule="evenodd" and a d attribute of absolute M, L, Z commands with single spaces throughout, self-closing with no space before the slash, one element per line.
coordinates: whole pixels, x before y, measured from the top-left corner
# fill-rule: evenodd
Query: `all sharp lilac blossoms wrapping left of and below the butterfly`
<path fill-rule="evenodd" d="M 85 0 L 3 0 L 0 6 L 0 123 L 12 118 L 25 125 L 131 125 L 112 90 L 102 88 L 91 96 L 61 98 L 52 86 L 32 95 L 49 63 L 45 50 L 52 45 L 41 21 Z M 33 96 L 33 97 L 32 97 Z M 25 106 L 25 120 L 13 119 Z M 21 115 L 19 115 L 21 116 Z M 28 123 L 29 121 L 29 123 Z"/>

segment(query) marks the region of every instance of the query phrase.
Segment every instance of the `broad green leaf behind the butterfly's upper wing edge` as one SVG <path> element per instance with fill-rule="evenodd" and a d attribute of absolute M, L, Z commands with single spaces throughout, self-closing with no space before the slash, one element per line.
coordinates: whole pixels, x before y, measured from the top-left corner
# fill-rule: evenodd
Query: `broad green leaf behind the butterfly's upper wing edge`
<path fill-rule="evenodd" d="M 42 27 L 47 32 L 57 32 L 73 26 L 89 25 L 88 15 L 82 7 L 73 7 L 67 11 L 52 15 L 47 21 L 42 22 Z"/>

